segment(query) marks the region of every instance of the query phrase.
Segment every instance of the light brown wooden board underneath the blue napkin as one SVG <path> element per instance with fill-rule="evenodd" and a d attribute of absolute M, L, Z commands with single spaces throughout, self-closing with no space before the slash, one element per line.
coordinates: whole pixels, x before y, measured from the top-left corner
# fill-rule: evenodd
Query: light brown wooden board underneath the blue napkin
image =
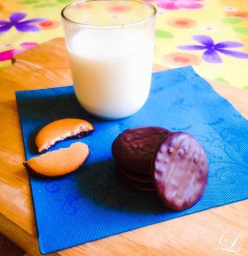
<path fill-rule="evenodd" d="M 154 65 L 154 70 L 165 69 Z M 27 254 L 40 255 L 15 91 L 72 84 L 63 38 L 16 55 L 0 71 L 0 232 Z M 248 91 L 211 82 L 213 88 L 248 118 Z M 228 232 L 224 234 L 225 232 Z M 88 242 L 52 255 L 248 255 L 248 200 Z M 49 239 L 49 238 L 47 238 Z M 228 239 L 228 240 L 225 240 Z M 230 246 L 228 246 L 230 245 Z"/>

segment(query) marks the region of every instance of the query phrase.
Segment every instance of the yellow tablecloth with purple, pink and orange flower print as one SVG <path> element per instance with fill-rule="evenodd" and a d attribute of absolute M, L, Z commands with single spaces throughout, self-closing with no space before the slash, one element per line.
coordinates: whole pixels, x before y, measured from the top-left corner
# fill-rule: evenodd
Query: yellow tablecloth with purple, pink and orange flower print
<path fill-rule="evenodd" d="M 154 63 L 192 65 L 205 78 L 248 89 L 247 0 L 149 1 L 157 8 Z M 71 2 L 0 1 L 0 68 L 13 55 L 63 36 L 60 11 Z M 129 10 L 117 4 L 113 11 Z"/>

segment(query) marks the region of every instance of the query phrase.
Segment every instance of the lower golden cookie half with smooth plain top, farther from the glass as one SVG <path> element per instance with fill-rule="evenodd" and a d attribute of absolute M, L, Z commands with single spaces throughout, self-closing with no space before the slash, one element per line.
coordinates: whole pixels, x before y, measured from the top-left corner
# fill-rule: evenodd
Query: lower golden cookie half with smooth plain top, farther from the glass
<path fill-rule="evenodd" d="M 24 166 L 42 176 L 61 176 L 77 170 L 89 155 L 89 147 L 85 143 L 76 142 L 68 148 L 60 148 L 33 157 Z"/>

